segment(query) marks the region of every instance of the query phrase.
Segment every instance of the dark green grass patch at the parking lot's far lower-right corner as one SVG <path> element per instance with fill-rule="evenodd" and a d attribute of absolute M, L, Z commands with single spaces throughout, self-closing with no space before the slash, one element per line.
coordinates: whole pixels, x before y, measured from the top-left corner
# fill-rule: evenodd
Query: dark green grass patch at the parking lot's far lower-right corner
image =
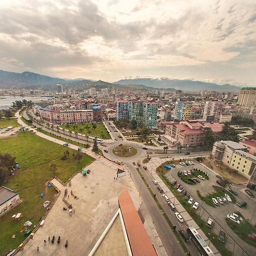
<path fill-rule="evenodd" d="M 248 234 L 255 234 L 256 229 L 251 226 L 251 224 L 242 216 L 240 212 L 236 213 L 243 218 L 243 221 L 240 222 L 240 224 L 236 224 L 235 222 L 226 218 L 226 222 L 229 225 L 229 228 L 232 229 L 234 233 L 236 233 L 237 236 L 240 237 L 243 241 L 256 247 L 256 243 L 247 237 Z"/>

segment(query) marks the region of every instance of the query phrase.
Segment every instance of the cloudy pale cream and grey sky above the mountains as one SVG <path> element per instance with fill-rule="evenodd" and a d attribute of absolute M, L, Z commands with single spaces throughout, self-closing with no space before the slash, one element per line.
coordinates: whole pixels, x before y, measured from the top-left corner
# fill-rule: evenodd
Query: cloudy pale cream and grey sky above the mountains
<path fill-rule="evenodd" d="M 0 0 L 0 69 L 256 85 L 256 1 Z"/>

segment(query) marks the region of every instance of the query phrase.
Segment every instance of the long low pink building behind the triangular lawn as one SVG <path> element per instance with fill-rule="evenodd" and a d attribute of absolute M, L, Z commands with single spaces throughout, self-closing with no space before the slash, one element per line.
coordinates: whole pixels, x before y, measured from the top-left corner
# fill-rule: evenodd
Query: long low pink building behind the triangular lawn
<path fill-rule="evenodd" d="M 39 110 L 41 119 L 49 123 L 88 123 L 93 122 L 93 110 L 59 110 L 43 108 Z"/>

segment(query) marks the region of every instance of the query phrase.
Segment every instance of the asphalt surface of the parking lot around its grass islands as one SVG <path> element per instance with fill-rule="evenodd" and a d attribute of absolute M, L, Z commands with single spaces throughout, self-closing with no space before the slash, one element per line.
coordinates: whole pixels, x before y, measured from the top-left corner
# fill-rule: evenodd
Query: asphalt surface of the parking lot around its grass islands
<path fill-rule="evenodd" d="M 177 173 L 178 171 L 184 171 L 184 170 L 192 170 L 193 168 L 197 168 L 203 172 L 207 172 L 209 174 L 209 180 L 200 180 L 200 183 L 196 183 L 195 185 L 187 184 L 184 181 L 182 181 Z M 212 232 L 215 234 L 220 233 L 220 230 L 225 230 L 227 234 L 230 234 L 234 240 L 247 252 L 249 255 L 254 251 L 254 247 L 251 245 L 248 245 L 244 241 L 242 241 L 234 232 L 229 228 L 229 226 L 226 224 L 225 218 L 227 214 L 231 214 L 233 212 L 240 211 L 247 220 L 251 221 L 251 224 L 256 223 L 256 216 L 253 216 L 254 210 L 255 210 L 255 201 L 252 200 L 247 194 L 244 192 L 245 185 L 239 185 L 239 186 L 233 186 L 233 189 L 236 189 L 238 192 L 238 196 L 236 196 L 237 201 L 246 201 L 247 207 L 246 208 L 240 208 L 236 204 L 232 203 L 225 203 L 223 205 L 219 205 L 216 208 L 213 208 L 207 204 L 205 204 L 197 195 L 197 191 L 200 191 L 202 196 L 208 196 L 211 193 L 214 192 L 214 189 L 212 185 L 217 185 L 216 180 L 217 177 L 214 174 L 214 172 L 211 172 L 208 168 L 205 168 L 199 163 L 196 163 L 192 166 L 181 166 L 178 164 L 175 168 L 172 168 L 172 170 L 168 171 L 166 174 L 166 177 L 169 181 L 177 181 L 180 183 L 184 189 L 189 193 L 190 196 L 192 196 L 197 202 L 199 202 L 200 207 L 197 209 L 197 213 L 201 216 L 201 219 L 205 222 L 208 220 L 208 218 L 213 218 L 214 225 L 212 228 Z M 195 202 L 195 201 L 194 201 Z M 192 204 L 193 205 L 193 204 Z M 234 255 L 242 255 L 242 250 L 239 246 L 237 246 L 233 239 L 231 237 L 228 237 L 226 240 L 226 247 L 230 250 L 234 250 Z"/>

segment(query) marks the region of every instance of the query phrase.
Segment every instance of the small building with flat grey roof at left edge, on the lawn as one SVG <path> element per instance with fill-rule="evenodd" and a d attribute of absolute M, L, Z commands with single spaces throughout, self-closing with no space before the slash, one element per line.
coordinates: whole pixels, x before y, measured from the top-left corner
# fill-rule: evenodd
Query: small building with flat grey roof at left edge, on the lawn
<path fill-rule="evenodd" d="M 10 188 L 0 188 L 0 216 L 20 203 L 19 193 Z"/>

